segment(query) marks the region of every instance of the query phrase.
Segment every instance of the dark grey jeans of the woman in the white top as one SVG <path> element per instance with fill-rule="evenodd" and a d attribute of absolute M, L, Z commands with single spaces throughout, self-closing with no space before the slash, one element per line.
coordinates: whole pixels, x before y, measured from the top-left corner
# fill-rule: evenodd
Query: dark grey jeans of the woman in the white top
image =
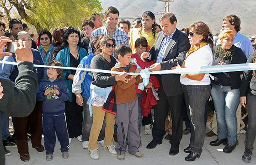
<path fill-rule="evenodd" d="M 182 85 L 191 125 L 190 148 L 193 153 L 201 155 L 205 133 L 205 104 L 211 93 L 210 85 Z"/>

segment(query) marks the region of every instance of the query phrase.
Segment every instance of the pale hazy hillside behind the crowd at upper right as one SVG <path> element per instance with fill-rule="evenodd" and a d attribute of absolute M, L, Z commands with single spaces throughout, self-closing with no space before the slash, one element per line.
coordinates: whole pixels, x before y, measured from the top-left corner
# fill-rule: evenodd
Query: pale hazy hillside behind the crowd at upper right
<path fill-rule="evenodd" d="M 159 13 L 164 11 L 164 2 L 158 0 L 100 0 L 103 10 L 108 6 L 117 7 L 120 18 L 141 16 L 144 11 Z M 188 27 L 196 21 L 208 24 L 213 33 L 219 32 L 222 19 L 235 14 L 241 19 L 241 33 L 256 34 L 256 0 L 174 0 L 170 2 L 170 11 L 178 20 L 177 27 Z M 159 23 L 160 14 L 156 15 Z"/>

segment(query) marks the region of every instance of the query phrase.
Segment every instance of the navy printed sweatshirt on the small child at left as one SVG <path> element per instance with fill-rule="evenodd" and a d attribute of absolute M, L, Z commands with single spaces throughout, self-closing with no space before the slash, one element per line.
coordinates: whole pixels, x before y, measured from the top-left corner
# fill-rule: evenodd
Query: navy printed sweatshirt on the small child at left
<path fill-rule="evenodd" d="M 46 89 L 59 90 L 59 95 L 51 94 L 44 96 Z M 69 90 L 66 83 L 63 80 L 48 79 L 41 80 L 38 92 L 37 100 L 43 101 L 43 115 L 46 116 L 58 116 L 65 112 L 65 101 L 69 100 Z"/>

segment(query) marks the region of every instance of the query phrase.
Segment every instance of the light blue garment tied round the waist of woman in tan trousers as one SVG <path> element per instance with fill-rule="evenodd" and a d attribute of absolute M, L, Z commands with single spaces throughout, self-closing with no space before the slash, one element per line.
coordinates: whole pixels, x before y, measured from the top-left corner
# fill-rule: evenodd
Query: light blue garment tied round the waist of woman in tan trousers
<path fill-rule="evenodd" d="M 87 101 L 87 105 L 89 106 L 90 116 L 92 117 L 91 102 L 93 101 L 94 98 L 96 98 L 98 96 L 103 96 L 103 95 L 105 95 L 104 102 L 106 102 L 107 97 L 112 90 L 112 86 L 107 87 L 107 88 L 101 88 L 101 87 L 91 84 L 90 89 L 91 89 L 90 90 L 91 95 Z"/>

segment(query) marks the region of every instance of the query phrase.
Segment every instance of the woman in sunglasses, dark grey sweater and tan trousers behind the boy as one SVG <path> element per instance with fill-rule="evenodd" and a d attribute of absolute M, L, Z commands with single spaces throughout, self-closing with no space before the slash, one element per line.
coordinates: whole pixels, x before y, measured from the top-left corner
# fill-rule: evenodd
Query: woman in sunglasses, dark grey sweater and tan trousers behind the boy
<path fill-rule="evenodd" d="M 104 36 L 101 38 L 99 45 L 101 53 L 92 58 L 91 69 L 111 70 L 117 62 L 116 59 L 112 57 L 115 50 L 115 40 L 112 37 Z M 91 96 L 87 103 L 89 105 L 90 113 L 93 113 L 93 122 L 88 149 L 90 157 L 94 160 L 100 158 L 97 140 L 104 118 L 106 122 L 104 148 L 111 154 L 117 154 L 115 146 L 113 145 L 115 114 L 106 111 L 104 101 L 106 102 L 108 96 L 111 96 L 111 92 L 113 92 L 112 86 L 117 84 L 117 81 L 124 81 L 127 83 L 127 79 L 125 78 L 127 76 L 126 74 L 127 73 L 124 72 L 121 75 L 111 76 L 109 73 L 92 72 L 92 82 L 90 86 Z"/>

